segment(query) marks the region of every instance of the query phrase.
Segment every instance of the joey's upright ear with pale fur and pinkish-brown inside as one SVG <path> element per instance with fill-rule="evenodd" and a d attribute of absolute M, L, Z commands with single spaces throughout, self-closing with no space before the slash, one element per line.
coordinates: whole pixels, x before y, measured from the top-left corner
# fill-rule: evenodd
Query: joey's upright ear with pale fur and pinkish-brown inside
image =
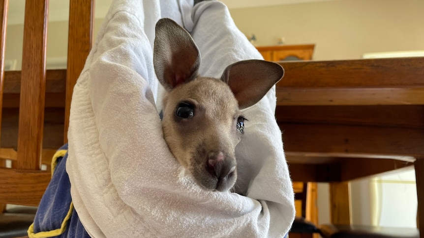
<path fill-rule="evenodd" d="M 153 66 L 165 89 L 196 78 L 199 65 L 200 53 L 190 34 L 173 20 L 160 19 L 156 23 Z"/>

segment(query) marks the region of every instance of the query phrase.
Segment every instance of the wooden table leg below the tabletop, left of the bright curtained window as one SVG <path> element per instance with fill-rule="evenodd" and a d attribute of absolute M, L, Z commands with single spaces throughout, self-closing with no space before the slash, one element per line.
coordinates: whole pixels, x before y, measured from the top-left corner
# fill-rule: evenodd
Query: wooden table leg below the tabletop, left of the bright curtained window
<path fill-rule="evenodd" d="M 349 182 L 330 183 L 330 216 L 332 224 L 352 223 Z"/>

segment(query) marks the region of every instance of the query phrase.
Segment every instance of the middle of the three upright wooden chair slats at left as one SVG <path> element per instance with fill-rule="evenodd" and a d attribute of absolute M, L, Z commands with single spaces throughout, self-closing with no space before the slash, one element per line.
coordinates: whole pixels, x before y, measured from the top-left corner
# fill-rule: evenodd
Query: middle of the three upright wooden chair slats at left
<path fill-rule="evenodd" d="M 40 168 L 46 88 L 48 0 L 25 3 L 18 169 Z"/>

